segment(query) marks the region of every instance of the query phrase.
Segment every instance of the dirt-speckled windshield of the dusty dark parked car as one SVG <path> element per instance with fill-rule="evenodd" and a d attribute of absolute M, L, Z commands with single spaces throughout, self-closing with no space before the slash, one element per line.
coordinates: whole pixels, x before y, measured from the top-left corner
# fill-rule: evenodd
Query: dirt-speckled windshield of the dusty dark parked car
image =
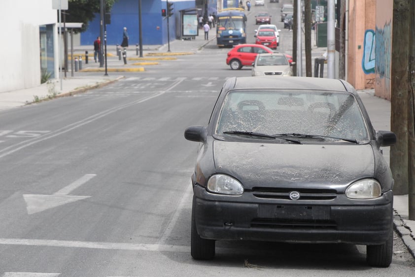
<path fill-rule="evenodd" d="M 315 90 L 231 90 L 217 120 L 216 134 L 235 132 L 313 136 L 368 141 L 360 106 L 347 92 Z M 344 141 L 344 140 L 343 140 Z"/>

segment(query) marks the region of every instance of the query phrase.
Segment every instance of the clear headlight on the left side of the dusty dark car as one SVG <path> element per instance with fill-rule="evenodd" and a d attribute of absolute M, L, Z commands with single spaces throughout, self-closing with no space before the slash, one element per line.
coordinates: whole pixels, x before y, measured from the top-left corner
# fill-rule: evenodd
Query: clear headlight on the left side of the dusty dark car
<path fill-rule="evenodd" d="M 207 191 L 215 194 L 242 195 L 243 187 L 238 180 L 231 176 L 215 174 L 207 181 Z"/>

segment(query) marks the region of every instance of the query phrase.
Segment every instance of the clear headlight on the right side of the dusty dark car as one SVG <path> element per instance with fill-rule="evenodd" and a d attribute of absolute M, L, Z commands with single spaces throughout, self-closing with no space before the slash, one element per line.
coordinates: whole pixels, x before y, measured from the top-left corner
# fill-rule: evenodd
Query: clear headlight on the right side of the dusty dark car
<path fill-rule="evenodd" d="M 382 195 L 382 188 L 376 180 L 366 179 L 351 184 L 346 189 L 346 197 L 351 199 L 372 199 Z"/>

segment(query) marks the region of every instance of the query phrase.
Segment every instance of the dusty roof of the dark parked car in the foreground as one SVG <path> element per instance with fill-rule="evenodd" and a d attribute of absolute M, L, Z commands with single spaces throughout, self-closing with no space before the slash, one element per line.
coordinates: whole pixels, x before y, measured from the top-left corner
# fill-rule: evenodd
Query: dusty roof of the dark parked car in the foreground
<path fill-rule="evenodd" d="M 349 91 L 356 94 L 352 86 L 341 79 L 313 78 L 313 77 L 287 77 L 287 78 L 268 78 L 268 77 L 234 77 L 228 79 L 224 85 L 230 89 L 308 89 L 308 90 L 328 90 L 328 91 Z"/>

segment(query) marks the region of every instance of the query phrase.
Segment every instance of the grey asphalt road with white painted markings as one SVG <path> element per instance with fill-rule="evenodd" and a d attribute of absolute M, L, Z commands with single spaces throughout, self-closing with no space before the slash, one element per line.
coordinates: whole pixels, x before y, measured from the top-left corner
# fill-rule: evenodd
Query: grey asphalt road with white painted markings
<path fill-rule="evenodd" d="M 368 267 L 355 245 L 219 241 L 213 261 L 192 260 L 198 145 L 183 131 L 207 124 L 225 79 L 250 75 L 230 70 L 227 51 L 213 41 L 106 87 L 0 112 L 0 277 L 413 277 L 396 236 L 387 269 Z"/>

